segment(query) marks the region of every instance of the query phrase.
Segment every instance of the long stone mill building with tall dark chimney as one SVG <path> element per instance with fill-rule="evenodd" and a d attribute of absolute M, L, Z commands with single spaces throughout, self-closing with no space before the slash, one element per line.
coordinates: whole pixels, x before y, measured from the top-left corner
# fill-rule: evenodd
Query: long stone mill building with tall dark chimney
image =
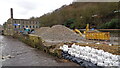
<path fill-rule="evenodd" d="M 10 18 L 4 23 L 4 35 L 13 35 L 16 32 L 28 27 L 30 29 L 40 28 L 40 22 L 31 19 L 14 19 L 13 9 L 10 9 Z"/>

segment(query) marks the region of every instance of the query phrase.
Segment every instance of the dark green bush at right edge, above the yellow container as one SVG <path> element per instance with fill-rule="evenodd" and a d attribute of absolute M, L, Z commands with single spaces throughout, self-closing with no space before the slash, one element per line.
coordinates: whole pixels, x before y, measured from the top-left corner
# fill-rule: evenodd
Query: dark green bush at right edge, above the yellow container
<path fill-rule="evenodd" d="M 100 28 L 120 29 L 120 20 L 119 19 L 112 19 L 110 22 L 103 24 Z"/>

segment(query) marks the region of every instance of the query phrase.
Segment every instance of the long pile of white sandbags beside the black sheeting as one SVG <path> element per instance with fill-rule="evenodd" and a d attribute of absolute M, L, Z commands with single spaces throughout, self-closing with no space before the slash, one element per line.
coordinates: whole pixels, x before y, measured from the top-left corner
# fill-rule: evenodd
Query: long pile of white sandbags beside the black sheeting
<path fill-rule="evenodd" d="M 68 45 L 60 47 L 63 51 L 67 51 L 70 55 L 90 61 L 97 66 L 119 66 L 120 55 L 113 55 L 103 50 L 91 47 L 83 47 L 73 44 L 70 48 Z"/>

